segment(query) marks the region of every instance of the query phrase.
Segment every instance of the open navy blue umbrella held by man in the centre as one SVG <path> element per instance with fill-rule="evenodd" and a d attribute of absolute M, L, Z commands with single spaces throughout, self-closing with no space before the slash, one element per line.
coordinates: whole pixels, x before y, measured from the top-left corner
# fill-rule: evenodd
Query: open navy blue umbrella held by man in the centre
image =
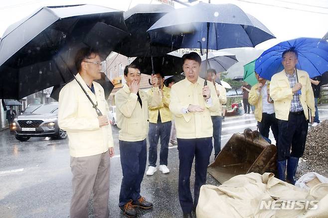
<path fill-rule="evenodd" d="M 238 6 L 203 2 L 166 13 L 148 32 L 154 45 L 168 45 L 171 50 L 204 47 L 206 55 L 208 49 L 254 47 L 274 38 Z"/>

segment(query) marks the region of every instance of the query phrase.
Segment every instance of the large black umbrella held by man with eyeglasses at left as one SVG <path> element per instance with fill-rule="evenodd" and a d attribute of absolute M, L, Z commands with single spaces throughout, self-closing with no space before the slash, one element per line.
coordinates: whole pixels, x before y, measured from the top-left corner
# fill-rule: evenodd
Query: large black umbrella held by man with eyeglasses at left
<path fill-rule="evenodd" d="M 42 7 L 9 26 L 0 41 L 0 98 L 21 99 L 65 84 L 82 47 L 105 59 L 128 35 L 123 12 L 97 5 Z"/>

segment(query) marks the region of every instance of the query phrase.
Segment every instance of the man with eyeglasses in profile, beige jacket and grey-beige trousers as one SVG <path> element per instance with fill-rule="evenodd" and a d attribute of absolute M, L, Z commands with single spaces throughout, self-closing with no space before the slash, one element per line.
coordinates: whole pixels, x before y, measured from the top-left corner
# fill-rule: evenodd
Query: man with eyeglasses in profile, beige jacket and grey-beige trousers
<path fill-rule="evenodd" d="M 101 78 L 99 53 L 82 48 L 75 57 L 76 75 L 84 90 L 103 114 L 109 107 L 104 89 L 94 80 Z M 70 166 L 73 174 L 70 218 L 88 218 L 88 203 L 93 193 L 95 217 L 109 216 L 109 167 L 114 142 L 107 116 L 98 116 L 92 104 L 73 80 L 59 94 L 58 124 L 69 138 Z"/>

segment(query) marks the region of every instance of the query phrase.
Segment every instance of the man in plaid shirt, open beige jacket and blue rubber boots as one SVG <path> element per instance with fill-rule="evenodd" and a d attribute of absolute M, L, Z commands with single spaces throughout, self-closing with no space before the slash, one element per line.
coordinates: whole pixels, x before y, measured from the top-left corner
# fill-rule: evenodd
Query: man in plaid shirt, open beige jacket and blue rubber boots
<path fill-rule="evenodd" d="M 270 96 L 274 101 L 279 128 L 278 177 L 285 181 L 287 162 L 287 180 L 291 184 L 296 182 L 297 165 L 305 150 L 307 120 L 314 119 L 309 117 L 308 108 L 315 111 L 309 74 L 296 69 L 297 62 L 298 52 L 294 48 L 285 50 L 282 53 L 284 70 L 275 74 L 270 84 Z"/>

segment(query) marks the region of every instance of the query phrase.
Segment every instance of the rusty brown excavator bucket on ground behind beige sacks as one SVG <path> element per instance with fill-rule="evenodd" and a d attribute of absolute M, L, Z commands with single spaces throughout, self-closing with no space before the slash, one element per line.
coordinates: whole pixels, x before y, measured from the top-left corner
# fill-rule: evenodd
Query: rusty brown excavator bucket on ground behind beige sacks
<path fill-rule="evenodd" d="M 243 134 L 231 136 L 207 171 L 222 184 L 236 175 L 250 172 L 276 174 L 276 162 L 276 146 L 267 142 L 258 131 L 247 128 Z"/>

